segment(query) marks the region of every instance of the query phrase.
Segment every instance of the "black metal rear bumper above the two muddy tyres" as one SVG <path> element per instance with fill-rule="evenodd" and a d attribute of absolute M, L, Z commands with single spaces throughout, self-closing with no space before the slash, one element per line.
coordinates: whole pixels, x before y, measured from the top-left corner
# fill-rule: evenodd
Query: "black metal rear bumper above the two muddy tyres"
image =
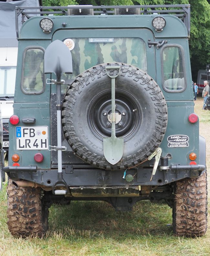
<path fill-rule="evenodd" d="M 31 181 L 40 186 L 53 186 L 58 179 L 58 169 L 38 170 L 36 165 L 6 166 L 3 168 L 13 180 Z M 152 168 L 103 170 L 91 165 L 64 165 L 63 179 L 68 186 L 162 186 L 184 178 L 196 178 L 205 171 L 205 165 L 171 165 L 168 170 L 157 169 L 152 181 Z"/>

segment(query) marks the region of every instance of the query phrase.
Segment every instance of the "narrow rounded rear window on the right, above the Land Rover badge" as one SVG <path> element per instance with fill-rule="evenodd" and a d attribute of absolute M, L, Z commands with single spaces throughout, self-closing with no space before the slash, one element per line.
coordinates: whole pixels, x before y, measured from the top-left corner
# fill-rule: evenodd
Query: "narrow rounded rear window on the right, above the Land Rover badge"
<path fill-rule="evenodd" d="M 164 47 L 162 51 L 163 89 L 168 92 L 183 91 L 184 79 L 183 53 L 178 46 Z"/>

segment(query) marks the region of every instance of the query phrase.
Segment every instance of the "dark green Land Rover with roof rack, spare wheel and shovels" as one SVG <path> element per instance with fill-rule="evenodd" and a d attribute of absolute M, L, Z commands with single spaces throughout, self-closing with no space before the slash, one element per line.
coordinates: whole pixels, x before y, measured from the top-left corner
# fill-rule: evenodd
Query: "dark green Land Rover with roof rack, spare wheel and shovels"
<path fill-rule="evenodd" d="M 173 208 L 176 235 L 203 235 L 190 6 L 16 7 L 16 24 L 21 15 L 4 168 L 10 232 L 43 236 L 53 202 L 128 211 L 148 199 Z"/>

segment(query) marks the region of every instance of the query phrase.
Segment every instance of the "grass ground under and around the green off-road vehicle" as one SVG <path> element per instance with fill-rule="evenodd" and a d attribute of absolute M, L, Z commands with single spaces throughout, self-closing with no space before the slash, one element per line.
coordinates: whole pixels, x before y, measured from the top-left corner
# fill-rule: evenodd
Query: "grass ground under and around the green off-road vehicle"
<path fill-rule="evenodd" d="M 210 169 L 210 111 L 195 102 L 200 133 L 207 143 Z M 209 177 L 208 177 L 209 180 Z M 210 184 L 210 183 L 209 183 Z M 210 193 L 209 193 L 210 195 Z M 208 198 L 210 203 L 210 198 Z M 210 230 L 201 238 L 175 237 L 172 210 L 164 203 L 138 202 L 131 213 L 115 212 L 104 202 L 72 202 L 50 208 L 44 239 L 13 238 L 6 225 L 6 186 L 0 193 L 0 255 L 4 256 L 205 256 L 210 255 Z M 210 223 L 210 221 L 208 221 Z"/>

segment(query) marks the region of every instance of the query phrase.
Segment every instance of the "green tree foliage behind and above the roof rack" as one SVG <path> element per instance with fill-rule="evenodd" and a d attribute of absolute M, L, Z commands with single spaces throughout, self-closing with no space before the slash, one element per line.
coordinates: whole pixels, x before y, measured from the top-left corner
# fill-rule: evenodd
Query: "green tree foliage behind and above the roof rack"
<path fill-rule="evenodd" d="M 43 6 L 68 5 L 191 5 L 190 55 L 193 81 L 210 64 L 210 0 L 42 0 Z"/>

